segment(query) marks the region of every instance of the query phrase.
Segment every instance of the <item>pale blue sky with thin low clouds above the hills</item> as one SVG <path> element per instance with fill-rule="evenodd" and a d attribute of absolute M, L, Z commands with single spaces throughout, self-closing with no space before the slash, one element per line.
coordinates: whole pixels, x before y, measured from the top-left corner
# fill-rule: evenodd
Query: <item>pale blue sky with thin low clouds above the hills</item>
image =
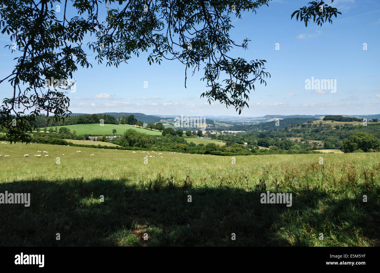
<path fill-rule="evenodd" d="M 237 43 L 247 37 L 248 50 L 234 49 L 231 57 L 247 61 L 265 59 L 271 74 L 267 85 L 255 84 L 249 108 L 241 116 L 266 114 L 378 114 L 380 113 L 380 1 L 335 0 L 332 6 L 342 15 L 332 24 L 310 24 L 290 20 L 293 11 L 309 0 L 276 0 L 257 10 L 245 12 L 233 21 L 231 38 Z M 330 1 L 326 3 L 329 4 Z M 106 14 L 104 6 L 102 13 Z M 233 19 L 234 20 L 234 19 Z M 6 36 L 0 36 L 0 76 L 5 78 L 14 66 Z M 275 44 L 279 43 L 279 50 Z M 363 43 L 367 50 L 363 50 Z M 97 64 L 74 73 L 76 92 L 68 93 L 73 113 L 130 112 L 187 116 L 238 116 L 233 107 L 207 103 L 200 94 L 207 90 L 200 79 L 203 69 L 187 79 L 180 62 L 163 60 L 149 65 L 147 54 L 134 57 L 118 68 Z M 306 79 L 336 79 L 336 92 L 306 90 Z M 148 88 L 144 88 L 147 81 Z M 11 95 L 0 85 L 2 98 Z"/>

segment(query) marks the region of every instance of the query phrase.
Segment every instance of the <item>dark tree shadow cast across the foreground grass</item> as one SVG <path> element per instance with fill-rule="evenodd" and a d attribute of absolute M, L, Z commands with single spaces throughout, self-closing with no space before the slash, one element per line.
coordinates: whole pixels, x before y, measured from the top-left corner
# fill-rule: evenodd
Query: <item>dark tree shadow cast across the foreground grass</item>
<path fill-rule="evenodd" d="M 170 179 L 145 184 L 129 179 L 0 183 L 0 193 L 5 191 L 30 193 L 31 201 L 29 207 L 0 204 L 1 246 L 364 246 L 379 242 L 378 188 L 368 194 L 367 203 L 337 199 L 323 190 L 294 188 L 291 207 L 261 204 L 263 188 L 196 188 Z M 144 233 L 148 240 L 143 240 Z M 236 240 L 231 240 L 232 233 Z"/>

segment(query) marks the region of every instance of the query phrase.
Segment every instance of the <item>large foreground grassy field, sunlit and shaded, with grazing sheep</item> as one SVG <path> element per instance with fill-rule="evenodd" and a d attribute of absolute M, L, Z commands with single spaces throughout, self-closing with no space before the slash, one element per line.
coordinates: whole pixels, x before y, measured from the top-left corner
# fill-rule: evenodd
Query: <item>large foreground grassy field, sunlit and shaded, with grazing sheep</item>
<path fill-rule="evenodd" d="M 161 153 L 0 144 L 0 193 L 31 199 L 1 204 L 0 245 L 380 245 L 380 153 L 235 156 L 235 164 Z M 267 190 L 292 193 L 292 206 L 262 204 Z"/>

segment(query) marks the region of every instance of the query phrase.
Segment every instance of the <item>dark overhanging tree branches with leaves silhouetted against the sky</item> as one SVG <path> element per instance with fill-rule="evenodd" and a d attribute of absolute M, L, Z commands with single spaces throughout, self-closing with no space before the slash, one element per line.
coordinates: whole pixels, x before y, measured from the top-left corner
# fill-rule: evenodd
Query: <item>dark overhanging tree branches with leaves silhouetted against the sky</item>
<path fill-rule="evenodd" d="M 0 79 L 0 84 L 8 80 L 13 88 L 13 96 L 5 98 L 0 108 L 0 125 L 13 141 L 28 142 L 35 116 L 70 114 L 66 94 L 75 83 L 68 79 L 78 67 L 92 67 L 86 47 L 106 66 L 118 67 L 144 51 L 149 51 L 149 64 L 177 60 L 184 64 L 185 87 L 188 72 L 194 74 L 202 67 L 201 80 L 208 90 L 201 97 L 233 106 L 240 114 L 248 107 L 254 84 L 266 84 L 270 74 L 264 68 L 266 60 L 227 55 L 233 47 L 247 49 L 250 41 L 244 38 L 236 43 L 230 38 L 231 17 L 240 19 L 244 11 L 256 13 L 270 1 L 65 0 L 62 16 L 54 6 L 60 0 L 0 0 L 0 30 L 9 35 L 12 44 L 8 48 L 17 54 L 13 71 Z M 70 4 L 76 11 L 72 17 L 67 12 Z M 106 4 L 106 19 L 99 21 L 99 10 Z M 291 18 L 297 14 L 297 21 L 306 26 L 311 18 L 322 25 L 339 13 L 323 1 L 308 5 Z M 94 41 L 83 44 L 86 34 Z M 220 81 L 220 77 L 225 79 Z M 25 111 L 30 115 L 24 115 Z"/>

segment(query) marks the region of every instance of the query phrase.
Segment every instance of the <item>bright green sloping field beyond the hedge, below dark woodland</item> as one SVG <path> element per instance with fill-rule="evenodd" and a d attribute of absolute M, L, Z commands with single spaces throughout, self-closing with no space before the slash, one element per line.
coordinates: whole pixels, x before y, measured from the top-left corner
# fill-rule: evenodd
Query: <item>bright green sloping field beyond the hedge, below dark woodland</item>
<path fill-rule="evenodd" d="M 76 131 L 77 135 L 94 135 L 94 136 L 100 136 L 100 135 L 113 135 L 112 130 L 116 129 L 116 132 L 118 135 L 122 135 L 126 130 L 128 129 L 134 129 L 140 133 L 146 133 L 148 135 L 161 135 L 161 132 L 155 131 L 155 130 L 147 130 L 143 128 L 138 128 L 135 126 L 129 126 L 129 125 L 117 125 L 117 124 L 103 124 L 104 126 L 100 126 L 100 124 L 75 124 L 75 125 L 65 125 L 65 126 L 57 126 L 58 130 L 60 127 L 67 127 L 70 129 L 71 133 Z M 47 128 L 47 130 L 49 130 Z M 55 129 L 55 127 L 53 127 Z M 44 130 L 44 128 L 40 128 L 41 131 Z"/>

